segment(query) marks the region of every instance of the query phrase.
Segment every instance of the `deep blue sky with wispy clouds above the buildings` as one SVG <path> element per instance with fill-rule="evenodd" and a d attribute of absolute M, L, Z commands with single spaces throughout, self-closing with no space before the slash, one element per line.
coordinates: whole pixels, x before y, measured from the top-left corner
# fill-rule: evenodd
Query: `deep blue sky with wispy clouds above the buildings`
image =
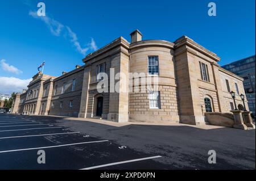
<path fill-rule="evenodd" d="M 47 19 L 35 16 L 39 2 Z M 217 16 L 208 16 L 209 2 Z M 44 73 L 60 75 L 119 36 L 130 41 L 135 29 L 144 40 L 187 35 L 220 56 L 220 65 L 255 54 L 255 0 L 0 0 L 0 22 L 0 93 L 24 87 L 43 60 Z"/>

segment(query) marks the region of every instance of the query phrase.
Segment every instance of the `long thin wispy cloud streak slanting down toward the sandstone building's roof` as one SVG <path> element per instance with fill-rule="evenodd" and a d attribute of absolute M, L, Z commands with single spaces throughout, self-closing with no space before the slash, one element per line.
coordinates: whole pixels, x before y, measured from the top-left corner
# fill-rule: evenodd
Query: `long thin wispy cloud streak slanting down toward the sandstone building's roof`
<path fill-rule="evenodd" d="M 88 50 L 95 51 L 98 49 L 96 42 L 94 41 L 93 38 L 91 38 L 90 43 L 86 44 L 84 47 L 81 47 L 81 44 L 78 41 L 76 33 L 73 32 L 70 27 L 64 26 L 62 23 L 58 22 L 57 20 L 55 20 L 53 18 L 49 18 L 48 15 L 38 16 L 36 11 L 30 11 L 29 15 L 35 19 L 41 19 L 46 24 L 46 26 L 49 28 L 52 35 L 54 35 L 54 36 L 60 36 L 60 35 L 65 36 L 66 34 L 68 34 L 70 41 L 76 47 L 77 52 L 81 53 L 83 56 L 86 55 Z"/>

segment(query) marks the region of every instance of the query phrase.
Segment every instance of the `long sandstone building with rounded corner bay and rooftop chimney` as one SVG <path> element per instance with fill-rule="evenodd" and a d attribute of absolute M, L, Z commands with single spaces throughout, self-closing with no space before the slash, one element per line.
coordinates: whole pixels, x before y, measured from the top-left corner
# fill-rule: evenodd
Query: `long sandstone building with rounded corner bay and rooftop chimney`
<path fill-rule="evenodd" d="M 230 113 L 230 91 L 243 105 L 243 79 L 220 68 L 216 54 L 187 36 L 172 43 L 142 40 L 134 31 L 131 43 L 119 37 L 82 61 L 60 77 L 36 74 L 27 92 L 16 95 L 12 112 L 205 124 L 205 112 Z M 246 99 L 245 105 L 248 110 Z"/>

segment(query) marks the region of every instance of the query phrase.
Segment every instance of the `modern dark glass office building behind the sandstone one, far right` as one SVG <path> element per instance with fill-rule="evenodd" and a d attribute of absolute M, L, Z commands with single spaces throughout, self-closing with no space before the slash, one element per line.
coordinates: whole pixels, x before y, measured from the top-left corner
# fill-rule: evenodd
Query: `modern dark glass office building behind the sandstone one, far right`
<path fill-rule="evenodd" d="M 245 79 L 243 86 L 245 87 L 248 106 L 255 117 L 255 55 L 224 65 L 222 68 Z"/>

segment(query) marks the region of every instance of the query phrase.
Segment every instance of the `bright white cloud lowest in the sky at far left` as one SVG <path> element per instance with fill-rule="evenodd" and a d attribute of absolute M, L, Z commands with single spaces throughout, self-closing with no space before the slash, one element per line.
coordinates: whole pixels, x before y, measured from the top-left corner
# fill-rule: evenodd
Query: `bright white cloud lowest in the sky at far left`
<path fill-rule="evenodd" d="M 11 94 L 12 92 L 22 92 L 23 89 L 27 88 L 28 83 L 32 79 L 19 79 L 15 77 L 0 77 L 1 82 L 1 93 Z"/>

